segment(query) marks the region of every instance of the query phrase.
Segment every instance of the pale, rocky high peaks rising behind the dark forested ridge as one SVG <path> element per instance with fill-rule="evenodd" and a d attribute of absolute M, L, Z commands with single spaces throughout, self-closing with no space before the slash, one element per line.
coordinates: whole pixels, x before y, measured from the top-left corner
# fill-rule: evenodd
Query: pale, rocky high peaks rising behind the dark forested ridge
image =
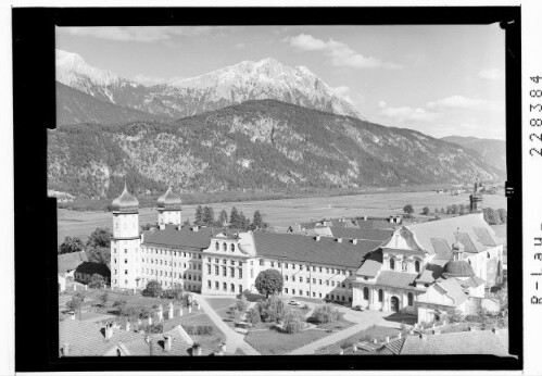
<path fill-rule="evenodd" d="M 92 67 L 76 53 L 56 50 L 56 82 L 105 103 L 169 118 L 197 115 L 257 99 L 276 99 L 361 117 L 352 104 L 308 68 L 290 67 L 274 59 L 243 61 L 198 77 L 146 87 L 112 72 Z M 87 121 L 93 123 L 91 118 Z"/>

